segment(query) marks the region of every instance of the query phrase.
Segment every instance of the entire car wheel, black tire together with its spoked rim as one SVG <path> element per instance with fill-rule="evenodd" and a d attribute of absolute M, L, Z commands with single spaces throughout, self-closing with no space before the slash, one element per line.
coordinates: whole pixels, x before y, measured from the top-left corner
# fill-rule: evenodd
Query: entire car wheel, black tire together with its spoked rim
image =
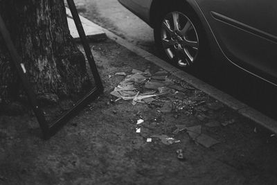
<path fill-rule="evenodd" d="M 190 8 L 169 9 L 154 25 L 154 40 L 161 57 L 187 71 L 204 69 L 204 61 L 211 57 L 201 21 Z"/>

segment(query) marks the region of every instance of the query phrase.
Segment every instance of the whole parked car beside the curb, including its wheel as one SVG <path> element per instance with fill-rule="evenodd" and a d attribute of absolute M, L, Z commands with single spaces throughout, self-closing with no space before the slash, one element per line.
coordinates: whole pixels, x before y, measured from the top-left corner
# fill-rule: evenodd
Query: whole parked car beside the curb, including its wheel
<path fill-rule="evenodd" d="M 162 55 L 204 67 L 207 53 L 277 85 L 276 0 L 118 0 L 154 28 Z"/>

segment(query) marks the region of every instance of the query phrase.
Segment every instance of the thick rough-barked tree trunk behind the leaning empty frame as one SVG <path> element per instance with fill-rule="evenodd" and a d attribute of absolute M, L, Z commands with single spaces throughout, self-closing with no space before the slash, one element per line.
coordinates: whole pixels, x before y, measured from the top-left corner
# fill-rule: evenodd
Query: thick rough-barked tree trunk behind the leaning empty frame
<path fill-rule="evenodd" d="M 63 0 L 0 0 L 0 14 L 39 99 L 78 94 L 89 85 L 84 56 L 73 43 Z M 0 36 L 0 106 L 22 86 Z"/>

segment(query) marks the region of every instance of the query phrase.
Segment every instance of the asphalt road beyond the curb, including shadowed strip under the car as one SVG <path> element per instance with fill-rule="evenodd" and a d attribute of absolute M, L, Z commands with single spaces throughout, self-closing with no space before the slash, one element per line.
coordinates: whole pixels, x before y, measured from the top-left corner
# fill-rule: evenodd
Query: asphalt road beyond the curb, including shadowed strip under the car
<path fill-rule="evenodd" d="M 159 56 L 154 46 L 152 28 L 121 6 L 117 0 L 75 0 L 75 3 L 80 15 Z M 193 75 L 277 119 L 275 87 L 232 66 L 213 78 L 210 78 L 209 72 Z"/>

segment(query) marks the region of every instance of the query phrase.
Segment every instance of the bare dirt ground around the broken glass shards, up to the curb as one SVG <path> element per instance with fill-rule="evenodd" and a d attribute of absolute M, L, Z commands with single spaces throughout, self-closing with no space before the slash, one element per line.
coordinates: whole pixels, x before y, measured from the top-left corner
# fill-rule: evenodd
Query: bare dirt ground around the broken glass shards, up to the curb
<path fill-rule="evenodd" d="M 201 104 L 186 110 L 163 113 L 158 103 L 115 102 L 110 92 L 124 78 L 115 73 L 160 69 L 110 40 L 91 48 L 105 92 L 51 139 L 41 138 L 31 112 L 0 116 L 0 184 L 277 184 L 275 136 L 193 88 L 179 98 Z M 136 133 L 139 119 L 144 123 Z M 220 143 L 206 148 L 186 130 L 173 134 L 176 125 L 201 125 Z M 180 142 L 153 137 L 148 143 L 154 134 Z"/>

